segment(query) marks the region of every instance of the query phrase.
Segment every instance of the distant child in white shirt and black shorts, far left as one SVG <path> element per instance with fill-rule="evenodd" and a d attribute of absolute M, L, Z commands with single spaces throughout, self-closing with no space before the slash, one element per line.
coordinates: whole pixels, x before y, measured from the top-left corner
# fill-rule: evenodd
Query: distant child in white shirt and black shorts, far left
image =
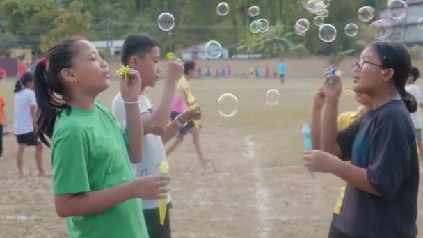
<path fill-rule="evenodd" d="M 15 113 L 13 131 L 17 138 L 16 164 L 19 177 L 24 177 L 24 151 L 27 146 L 35 146 L 35 161 L 39 175 L 45 175 L 42 168 L 42 144 L 34 132 L 37 103 L 34 93 L 34 74 L 26 72 L 15 84 Z"/>

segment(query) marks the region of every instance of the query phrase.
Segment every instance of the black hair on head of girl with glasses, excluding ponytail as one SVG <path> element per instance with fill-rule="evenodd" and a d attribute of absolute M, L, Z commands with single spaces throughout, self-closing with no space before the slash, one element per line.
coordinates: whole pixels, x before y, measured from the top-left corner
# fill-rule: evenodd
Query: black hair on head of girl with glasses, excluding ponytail
<path fill-rule="evenodd" d="M 410 77 L 411 57 L 406 47 L 399 43 L 374 42 L 371 45 L 378 53 L 383 68 L 392 68 L 392 81 L 401 97 L 406 97 L 406 82 Z"/>

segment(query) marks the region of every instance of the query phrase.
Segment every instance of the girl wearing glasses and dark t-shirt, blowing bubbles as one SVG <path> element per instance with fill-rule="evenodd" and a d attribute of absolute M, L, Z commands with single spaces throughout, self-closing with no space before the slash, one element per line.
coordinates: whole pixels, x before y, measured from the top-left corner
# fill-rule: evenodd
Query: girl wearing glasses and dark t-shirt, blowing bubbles
<path fill-rule="evenodd" d="M 399 44 L 366 47 L 353 66 L 354 90 L 371 98 L 372 111 L 339 133 L 342 82 L 335 77 L 333 84 L 324 83 L 325 152 L 306 151 L 303 158 L 310 171 L 333 173 L 348 183 L 329 237 L 417 236 L 419 165 L 409 115 L 417 104 L 404 89 L 410 68 L 408 51 Z M 326 70 L 326 78 L 329 73 Z"/>

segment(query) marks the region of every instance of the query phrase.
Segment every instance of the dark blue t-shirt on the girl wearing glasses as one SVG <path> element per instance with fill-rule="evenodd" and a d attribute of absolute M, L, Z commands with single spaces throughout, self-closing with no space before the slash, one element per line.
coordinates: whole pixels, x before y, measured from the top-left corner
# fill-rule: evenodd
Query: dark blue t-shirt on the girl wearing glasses
<path fill-rule="evenodd" d="M 335 228 L 352 237 L 416 237 L 419 160 L 404 102 L 394 100 L 363 115 L 338 134 L 341 159 L 367 169 L 381 196 L 349 183 Z"/>

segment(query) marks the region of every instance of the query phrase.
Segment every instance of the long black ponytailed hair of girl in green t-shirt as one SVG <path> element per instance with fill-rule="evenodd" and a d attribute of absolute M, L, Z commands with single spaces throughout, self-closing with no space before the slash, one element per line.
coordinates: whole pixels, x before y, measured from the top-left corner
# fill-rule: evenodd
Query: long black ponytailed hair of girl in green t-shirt
<path fill-rule="evenodd" d="M 47 61 L 40 61 L 35 66 L 35 97 L 38 104 L 38 118 L 35 122 L 35 132 L 42 143 L 49 146 L 45 135 L 51 139 L 56 119 L 64 109 L 70 112 L 70 106 L 65 103 L 65 88 L 61 80 L 61 70 L 72 68 L 72 59 L 77 50 L 74 44 L 83 37 L 72 37 L 62 40 L 51 47 L 45 56 Z"/>

